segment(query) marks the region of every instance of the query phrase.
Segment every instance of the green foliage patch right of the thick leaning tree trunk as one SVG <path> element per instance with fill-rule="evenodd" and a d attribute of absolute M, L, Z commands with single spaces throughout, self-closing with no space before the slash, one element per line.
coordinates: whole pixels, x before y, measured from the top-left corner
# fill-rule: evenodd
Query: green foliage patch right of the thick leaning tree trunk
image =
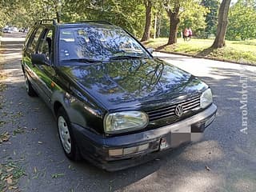
<path fill-rule="evenodd" d="M 256 9 L 252 1 L 238 0 L 230 8 L 229 26 L 226 38 L 246 40 L 256 38 Z"/>

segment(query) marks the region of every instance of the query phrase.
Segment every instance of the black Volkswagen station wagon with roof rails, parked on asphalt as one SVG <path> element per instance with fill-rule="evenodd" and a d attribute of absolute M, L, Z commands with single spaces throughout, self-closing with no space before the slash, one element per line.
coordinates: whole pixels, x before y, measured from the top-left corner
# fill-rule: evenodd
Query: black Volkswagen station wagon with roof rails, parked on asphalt
<path fill-rule="evenodd" d="M 57 118 L 66 156 L 121 170 L 196 140 L 217 107 L 209 86 L 108 22 L 37 22 L 22 70 Z"/>

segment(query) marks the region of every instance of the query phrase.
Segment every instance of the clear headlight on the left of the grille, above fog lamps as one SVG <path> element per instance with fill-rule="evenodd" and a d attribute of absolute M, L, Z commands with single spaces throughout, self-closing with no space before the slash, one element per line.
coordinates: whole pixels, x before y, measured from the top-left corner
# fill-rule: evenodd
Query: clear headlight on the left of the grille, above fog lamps
<path fill-rule="evenodd" d="M 149 120 L 141 111 L 123 111 L 106 114 L 104 130 L 106 134 L 122 133 L 130 130 L 140 130 L 147 126 Z"/>

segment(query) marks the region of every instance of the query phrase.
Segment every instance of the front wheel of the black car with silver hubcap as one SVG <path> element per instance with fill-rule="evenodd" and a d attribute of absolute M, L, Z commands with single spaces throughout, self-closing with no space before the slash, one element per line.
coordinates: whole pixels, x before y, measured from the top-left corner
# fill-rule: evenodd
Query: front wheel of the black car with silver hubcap
<path fill-rule="evenodd" d="M 57 114 L 58 138 L 62 144 L 62 149 L 67 158 L 73 161 L 80 160 L 78 146 L 74 140 L 70 119 L 63 107 L 59 108 Z"/>

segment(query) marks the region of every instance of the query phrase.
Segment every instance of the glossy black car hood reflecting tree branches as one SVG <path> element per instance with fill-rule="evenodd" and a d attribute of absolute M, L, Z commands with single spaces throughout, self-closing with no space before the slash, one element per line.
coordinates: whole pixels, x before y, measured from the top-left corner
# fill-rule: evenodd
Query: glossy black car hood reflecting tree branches
<path fill-rule="evenodd" d="M 198 78 L 158 58 L 72 62 L 61 71 L 109 111 L 164 106 L 207 88 Z"/>

